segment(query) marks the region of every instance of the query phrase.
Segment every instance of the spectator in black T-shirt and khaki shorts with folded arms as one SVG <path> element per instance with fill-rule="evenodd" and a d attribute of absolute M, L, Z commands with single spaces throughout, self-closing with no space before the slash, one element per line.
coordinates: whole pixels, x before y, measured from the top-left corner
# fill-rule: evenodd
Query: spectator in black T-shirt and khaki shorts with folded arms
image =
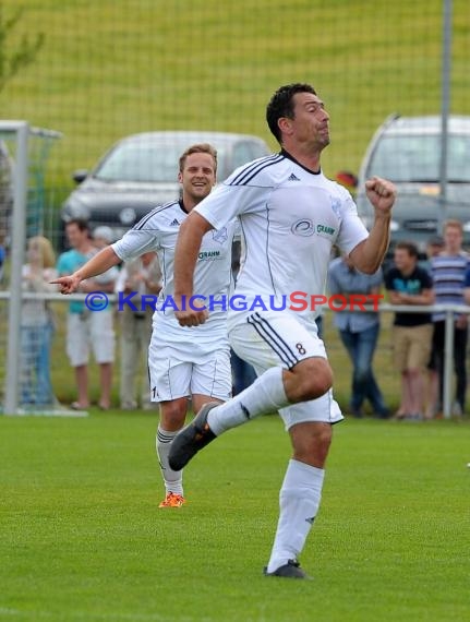
<path fill-rule="evenodd" d="M 418 247 L 413 242 L 402 241 L 395 247 L 395 266 L 385 276 L 391 304 L 425 306 L 434 302 L 431 276 L 418 266 Z M 423 418 L 423 372 L 430 361 L 432 334 L 430 313 L 395 313 L 394 357 L 401 373 L 401 402 L 397 419 Z"/>

